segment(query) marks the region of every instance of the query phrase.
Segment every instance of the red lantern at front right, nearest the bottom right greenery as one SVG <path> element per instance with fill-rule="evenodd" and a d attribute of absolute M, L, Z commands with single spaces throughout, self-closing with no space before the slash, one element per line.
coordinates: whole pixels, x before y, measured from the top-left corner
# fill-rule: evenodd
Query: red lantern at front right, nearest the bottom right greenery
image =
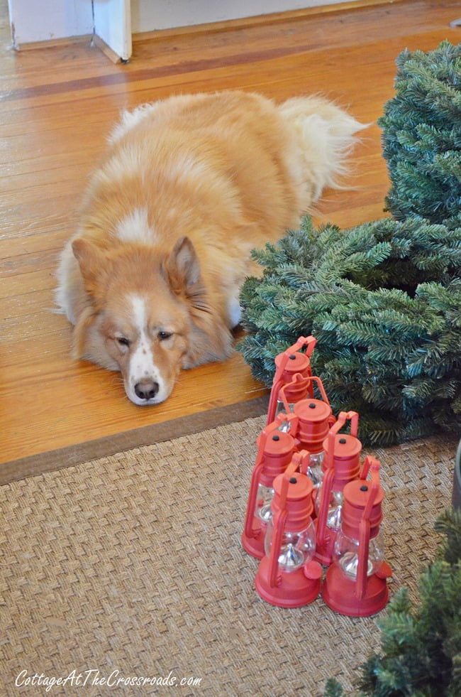
<path fill-rule="evenodd" d="M 370 467 L 371 482 L 366 479 Z M 374 615 L 389 600 L 387 578 L 392 572 L 384 561 L 379 531 L 383 497 L 379 461 L 366 458 L 360 479 L 344 487 L 341 529 L 322 589 L 323 600 L 341 615 Z"/>

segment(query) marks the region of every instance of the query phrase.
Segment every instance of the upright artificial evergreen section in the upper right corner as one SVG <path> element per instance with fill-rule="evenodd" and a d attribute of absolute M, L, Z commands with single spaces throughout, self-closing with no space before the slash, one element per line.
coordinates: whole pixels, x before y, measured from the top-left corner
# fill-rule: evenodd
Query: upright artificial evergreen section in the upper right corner
<path fill-rule="evenodd" d="M 443 41 L 396 60 L 396 96 L 378 123 L 392 181 L 387 207 L 398 220 L 416 213 L 461 226 L 460 47 Z"/>

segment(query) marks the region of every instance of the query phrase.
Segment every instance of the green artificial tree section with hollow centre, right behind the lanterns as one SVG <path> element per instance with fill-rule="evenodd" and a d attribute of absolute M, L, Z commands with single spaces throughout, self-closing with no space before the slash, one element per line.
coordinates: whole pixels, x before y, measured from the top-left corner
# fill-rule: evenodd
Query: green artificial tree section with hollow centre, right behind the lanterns
<path fill-rule="evenodd" d="M 333 411 L 359 412 L 364 442 L 459 429 L 461 228 L 411 217 L 317 231 L 306 218 L 254 256 L 265 271 L 243 286 L 240 350 L 256 377 L 270 384 L 274 355 L 312 334 L 314 372 Z"/>

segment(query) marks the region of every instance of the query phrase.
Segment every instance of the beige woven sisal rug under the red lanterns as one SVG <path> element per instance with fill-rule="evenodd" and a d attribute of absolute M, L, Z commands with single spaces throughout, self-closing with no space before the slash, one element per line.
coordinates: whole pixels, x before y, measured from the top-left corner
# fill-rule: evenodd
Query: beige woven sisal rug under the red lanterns
<path fill-rule="evenodd" d="M 352 687 L 379 647 L 374 617 L 337 615 L 321 598 L 282 610 L 253 589 L 257 561 L 240 534 L 262 425 L 0 488 L 2 695 L 316 697 L 330 676 Z M 455 450 L 431 438 L 374 451 L 391 593 L 407 585 L 414 598 L 433 558 Z"/>

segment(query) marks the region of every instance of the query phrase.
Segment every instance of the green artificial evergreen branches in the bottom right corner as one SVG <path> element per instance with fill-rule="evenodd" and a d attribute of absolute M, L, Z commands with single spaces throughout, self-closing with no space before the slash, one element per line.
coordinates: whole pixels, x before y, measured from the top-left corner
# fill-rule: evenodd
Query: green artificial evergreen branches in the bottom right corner
<path fill-rule="evenodd" d="M 381 652 L 362 665 L 360 697 L 458 697 L 461 694 L 461 512 L 445 511 L 435 524 L 445 534 L 438 558 L 421 575 L 418 603 L 406 588 L 377 621 Z M 343 696 L 338 681 L 327 697 Z"/>

